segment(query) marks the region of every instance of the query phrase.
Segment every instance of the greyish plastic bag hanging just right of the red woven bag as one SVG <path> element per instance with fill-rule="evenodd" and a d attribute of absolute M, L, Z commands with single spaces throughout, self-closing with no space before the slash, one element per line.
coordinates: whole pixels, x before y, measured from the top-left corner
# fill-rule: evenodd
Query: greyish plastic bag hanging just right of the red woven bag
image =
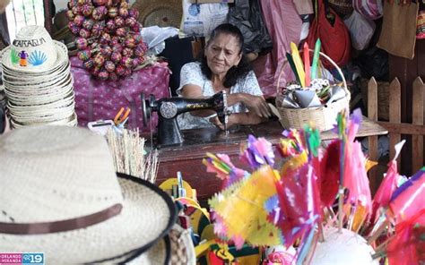
<path fill-rule="evenodd" d="M 370 38 L 372 38 L 375 32 L 375 22 L 364 17 L 357 11 L 351 13 L 351 16 L 343 22 L 350 32 L 351 46 L 356 50 L 362 50 L 368 47 Z"/>

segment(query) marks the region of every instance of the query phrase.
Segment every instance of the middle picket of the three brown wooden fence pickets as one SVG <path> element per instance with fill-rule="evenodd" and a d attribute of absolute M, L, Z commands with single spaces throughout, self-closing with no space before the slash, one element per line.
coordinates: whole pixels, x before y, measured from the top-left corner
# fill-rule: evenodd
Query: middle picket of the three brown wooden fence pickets
<path fill-rule="evenodd" d="M 402 107 L 401 107 L 401 84 L 397 78 L 391 81 L 389 86 L 389 122 L 392 124 L 400 124 L 402 122 Z M 390 159 L 395 157 L 394 146 L 401 141 L 400 133 L 389 133 L 389 150 Z M 400 168 L 402 158 L 397 160 L 398 168 Z"/>

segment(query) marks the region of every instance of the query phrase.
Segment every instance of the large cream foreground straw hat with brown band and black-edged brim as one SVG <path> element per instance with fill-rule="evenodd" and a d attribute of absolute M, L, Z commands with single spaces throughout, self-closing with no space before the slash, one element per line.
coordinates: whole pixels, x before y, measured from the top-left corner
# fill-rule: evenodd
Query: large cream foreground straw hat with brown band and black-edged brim
<path fill-rule="evenodd" d="M 169 257 L 160 240 L 176 220 L 169 195 L 116 174 L 106 140 L 89 130 L 0 136 L 0 183 L 2 252 L 44 252 L 48 264 Z"/>

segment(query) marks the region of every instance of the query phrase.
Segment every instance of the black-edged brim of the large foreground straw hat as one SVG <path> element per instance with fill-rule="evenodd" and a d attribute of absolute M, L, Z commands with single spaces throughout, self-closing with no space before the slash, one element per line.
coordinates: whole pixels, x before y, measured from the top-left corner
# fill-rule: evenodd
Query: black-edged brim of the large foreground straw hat
<path fill-rule="evenodd" d="M 124 201 L 116 217 L 68 232 L 0 234 L 0 249 L 2 252 L 44 252 L 48 264 L 108 261 L 146 252 L 168 234 L 176 222 L 176 207 L 169 195 L 154 184 L 130 175 L 117 175 Z"/>

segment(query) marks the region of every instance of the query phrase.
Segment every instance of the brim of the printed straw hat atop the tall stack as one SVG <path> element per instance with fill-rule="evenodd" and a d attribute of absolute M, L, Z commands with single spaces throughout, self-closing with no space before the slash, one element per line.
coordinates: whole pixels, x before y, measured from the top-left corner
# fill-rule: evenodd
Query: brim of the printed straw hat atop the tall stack
<path fill-rule="evenodd" d="M 3 67 L 8 68 L 9 70 L 12 71 L 16 71 L 19 73 L 45 73 L 45 72 L 50 72 L 52 70 L 54 70 L 56 67 L 60 66 L 61 64 L 64 64 L 65 61 L 68 59 L 68 48 L 65 46 L 65 44 L 63 44 L 62 42 L 53 40 L 55 47 L 56 47 L 56 53 L 57 53 L 57 57 L 56 57 L 56 62 L 55 64 L 50 65 L 49 67 L 39 67 L 39 68 L 28 68 L 28 69 L 23 69 L 23 68 L 19 68 L 19 67 L 15 67 L 12 63 L 11 63 L 11 53 L 10 53 L 10 49 L 11 46 L 5 47 L 4 50 L 2 51 L 2 64 Z"/>

